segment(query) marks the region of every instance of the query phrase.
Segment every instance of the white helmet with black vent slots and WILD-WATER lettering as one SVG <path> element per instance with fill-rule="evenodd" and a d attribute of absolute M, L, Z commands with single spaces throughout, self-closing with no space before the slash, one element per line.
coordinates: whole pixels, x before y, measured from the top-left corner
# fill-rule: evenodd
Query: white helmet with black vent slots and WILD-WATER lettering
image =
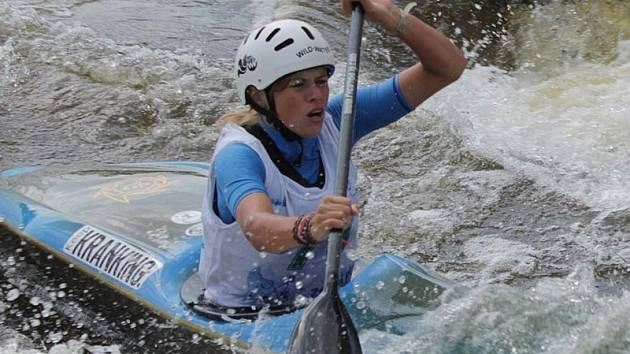
<path fill-rule="evenodd" d="M 332 50 L 315 27 L 297 20 L 274 21 L 251 31 L 238 48 L 234 67 L 238 97 L 245 104 L 250 85 L 262 91 L 285 75 L 323 65 L 332 75 Z"/>

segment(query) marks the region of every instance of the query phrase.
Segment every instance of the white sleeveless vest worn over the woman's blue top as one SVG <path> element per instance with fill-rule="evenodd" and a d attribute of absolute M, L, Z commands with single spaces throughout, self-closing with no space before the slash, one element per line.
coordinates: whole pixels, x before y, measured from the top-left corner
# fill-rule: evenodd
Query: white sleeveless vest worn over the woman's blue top
<path fill-rule="evenodd" d="M 322 198 L 334 194 L 339 130 L 327 113 L 318 136 L 320 155 L 325 170 L 322 189 L 306 188 L 284 176 L 270 159 L 263 144 L 240 126 L 228 124 L 223 128 L 210 165 L 208 188 L 203 203 L 204 239 L 199 275 L 206 300 L 228 307 L 288 305 L 296 297 L 315 297 L 324 284 L 327 242 L 301 246 L 286 253 L 257 251 L 245 238 L 235 221 L 224 224 L 213 209 L 215 180 L 214 159 L 229 144 L 244 143 L 258 153 L 265 166 L 265 188 L 274 212 L 297 216 L 313 212 Z M 351 163 L 347 196 L 357 202 L 357 173 Z M 357 218 L 350 231 L 348 244 L 356 247 Z M 345 248 L 347 249 L 347 247 Z M 354 262 L 344 251 L 339 278 L 347 283 Z"/>

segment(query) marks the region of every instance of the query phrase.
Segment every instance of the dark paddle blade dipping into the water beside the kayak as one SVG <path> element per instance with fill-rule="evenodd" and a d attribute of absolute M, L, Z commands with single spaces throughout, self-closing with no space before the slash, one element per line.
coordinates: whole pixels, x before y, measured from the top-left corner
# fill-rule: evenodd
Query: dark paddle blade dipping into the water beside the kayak
<path fill-rule="evenodd" d="M 337 289 L 322 292 L 295 326 L 290 354 L 362 354 L 359 335 Z"/>

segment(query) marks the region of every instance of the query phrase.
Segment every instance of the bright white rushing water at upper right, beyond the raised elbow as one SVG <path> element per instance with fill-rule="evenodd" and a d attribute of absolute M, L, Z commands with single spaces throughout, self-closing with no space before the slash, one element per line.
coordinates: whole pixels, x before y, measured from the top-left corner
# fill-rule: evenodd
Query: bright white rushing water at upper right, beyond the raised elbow
<path fill-rule="evenodd" d="M 588 16 L 604 11 L 597 4 L 587 14 L 559 2 L 522 14 L 512 39 L 527 44 L 517 52 L 520 68 L 475 66 L 441 93 L 446 100 L 435 109 L 480 154 L 587 205 L 614 209 L 630 199 L 630 26 L 609 17 L 611 31 L 586 27 Z M 630 13 L 630 5 L 619 7 Z M 593 37 L 607 56 L 596 56 Z"/>

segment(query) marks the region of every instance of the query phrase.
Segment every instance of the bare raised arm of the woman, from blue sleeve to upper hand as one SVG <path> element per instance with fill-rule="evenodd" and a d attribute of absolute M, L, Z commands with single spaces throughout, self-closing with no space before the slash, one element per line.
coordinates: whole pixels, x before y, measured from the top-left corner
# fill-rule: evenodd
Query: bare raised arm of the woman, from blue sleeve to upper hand
<path fill-rule="evenodd" d="M 400 88 L 409 104 L 419 105 L 457 80 L 466 68 L 466 58 L 446 36 L 413 15 L 403 20 L 390 0 L 341 0 L 347 14 L 355 1 L 363 5 L 368 20 L 395 33 L 418 56 L 419 63 L 400 74 Z"/>

